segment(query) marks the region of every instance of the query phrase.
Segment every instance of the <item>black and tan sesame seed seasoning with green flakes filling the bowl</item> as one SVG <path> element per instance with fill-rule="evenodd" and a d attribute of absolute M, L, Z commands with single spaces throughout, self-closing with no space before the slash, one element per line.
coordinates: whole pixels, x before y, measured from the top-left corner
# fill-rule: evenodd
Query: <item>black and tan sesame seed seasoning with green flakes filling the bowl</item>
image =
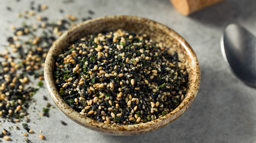
<path fill-rule="evenodd" d="M 64 101 L 88 118 L 140 124 L 184 99 L 188 74 L 176 52 L 124 30 L 89 35 L 58 56 L 54 77 Z"/>

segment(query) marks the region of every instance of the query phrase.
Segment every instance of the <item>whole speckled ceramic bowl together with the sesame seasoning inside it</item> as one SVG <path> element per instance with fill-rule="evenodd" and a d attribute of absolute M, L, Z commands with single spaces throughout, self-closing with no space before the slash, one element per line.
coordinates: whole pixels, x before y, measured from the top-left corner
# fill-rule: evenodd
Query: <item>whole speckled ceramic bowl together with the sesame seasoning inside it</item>
<path fill-rule="evenodd" d="M 48 52 L 44 75 L 66 116 L 109 135 L 168 125 L 193 102 L 201 79 L 183 38 L 134 16 L 100 17 L 63 33 Z"/>

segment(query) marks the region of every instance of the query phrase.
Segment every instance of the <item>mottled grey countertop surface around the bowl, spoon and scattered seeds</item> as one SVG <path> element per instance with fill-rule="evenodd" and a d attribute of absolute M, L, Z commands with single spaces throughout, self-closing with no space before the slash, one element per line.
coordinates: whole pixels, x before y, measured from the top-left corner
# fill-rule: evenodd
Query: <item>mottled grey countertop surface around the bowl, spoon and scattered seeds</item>
<path fill-rule="evenodd" d="M 29 9 L 30 2 L 1 0 L 1 44 L 7 44 L 6 37 L 12 35 L 9 25 L 21 25 L 24 21 L 18 19 L 17 14 Z M 35 3 L 39 4 L 39 1 Z M 44 0 L 40 3 L 48 5 L 49 8 L 41 15 L 48 16 L 49 21 L 56 21 L 65 14 L 87 17 L 91 9 L 95 12 L 93 18 L 122 14 L 145 17 L 165 24 L 178 32 L 194 49 L 201 66 L 202 80 L 194 102 L 179 119 L 157 131 L 132 137 L 104 135 L 76 124 L 55 106 L 47 89 L 41 88 L 33 96 L 37 100 L 35 109 L 29 109 L 29 127 L 34 134 L 29 134 L 28 138 L 32 142 L 256 142 L 256 90 L 245 86 L 231 73 L 220 50 L 221 33 L 229 23 L 244 25 L 256 35 L 255 0 L 226 0 L 189 17 L 178 13 L 168 0 L 74 0 L 71 3 Z M 7 6 L 12 10 L 8 11 Z M 62 8 L 64 13 L 60 13 L 58 8 Z M 28 19 L 26 22 L 32 21 Z M 48 97 L 48 101 L 42 100 L 43 95 Z M 49 111 L 50 118 L 38 115 L 47 102 L 55 106 Z M 67 125 L 62 125 L 60 120 Z M 21 123 L 20 130 L 10 131 L 13 142 L 23 142 L 25 138 L 21 133 L 24 132 Z M 0 129 L 8 129 L 13 125 L 4 122 Z M 40 130 L 42 133 L 39 133 Z M 43 134 L 45 140 L 41 140 L 39 134 Z"/>

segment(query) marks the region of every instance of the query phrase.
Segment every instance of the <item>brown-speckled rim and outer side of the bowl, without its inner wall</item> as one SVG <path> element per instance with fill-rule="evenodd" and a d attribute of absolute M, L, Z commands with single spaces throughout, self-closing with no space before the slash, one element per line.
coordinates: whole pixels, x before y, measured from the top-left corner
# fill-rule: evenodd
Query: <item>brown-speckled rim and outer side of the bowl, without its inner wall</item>
<path fill-rule="evenodd" d="M 53 75 L 53 67 L 50 66 L 49 62 L 53 62 L 53 57 L 52 54 L 54 50 L 57 48 L 57 45 L 63 40 L 67 39 L 72 36 L 72 32 L 75 33 L 77 32 L 77 29 L 82 27 L 83 25 L 86 24 L 91 24 L 95 23 L 97 21 L 104 21 L 106 19 L 118 19 L 118 18 L 126 18 L 126 19 L 131 19 L 131 20 L 139 20 L 142 19 L 144 21 L 148 22 L 153 22 L 154 26 L 161 26 L 164 29 L 167 29 L 169 31 L 170 35 L 175 38 L 179 43 L 181 43 L 182 47 L 189 53 L 190 59 L 191 59 L 191 66 L 193 67 L 193 79 L 191 81 L 191 88 L 187 92 L 186 97 L 184 97 L 183 101 L 181 104 L 175 108 L 172 112 L 166 114 L 164 117 L 146 122 L 143 124 L 135 124 L 135 125 L 113 125 L 113 124 L 106 124 L 103 122 L 99 122 L 93 119 L 90 119 L 85 116 L 81 116 L 78 112 L 76 112 L 73 108 L 71 108 L 65 101 L 62 99 L 62 97 L 59 95 L 56 86 L 54 83 Z M 137 135 L 138 131 L 143 133 L 147 133 L 153 130 L 157 130 L 165 125 L 168 125 L 169 123 L 173 122 L 177 118 L 179 118 L 186 110 L 187 108 L 191 105 L 193 102 L 194 98 L 196 97 L 196 94 L 199 90 L 200 86 L 200 81 L 201 81 L 201 71 L 200 71 L 200 66 L 198 59 L 190 47 L 190 45 L 184 40 L 177 32 L 169 28 L 168 26 L 164 24 L 160 24 L 156 21 L 149 20 L 146 18 L 142 17 L 137 17 L 137 16 L 127 16 L 127 15 L 112 15 L 112 16 L 104 16 L 104 17 L 98 17 L 94 19 L 90 19 L 87 21 L 84 21 L 80 24 L 77 24 L 73 26 L 71 29 L 67 30 L 64 32 L 52 45 L 50 48 L 46 59 L 45 59 L 45 64 L 44 64 L 44 79 L 46 83 L 46 87 L 48 89 L 49 94 L 51 95 L 53 102 L 57 105 L 57 107 L 70 119 L 74 120 L 76 123 L 89 128 L 91 130 L 95 130 L 104 134 L 109 134 L 109 135 Z M 74 113 L 70 114 L 70 111 L 73 111 Z M 129 132 L 129 134 L 127 134 Z M 113 134 L 115 133 L 115 134 Z"/>

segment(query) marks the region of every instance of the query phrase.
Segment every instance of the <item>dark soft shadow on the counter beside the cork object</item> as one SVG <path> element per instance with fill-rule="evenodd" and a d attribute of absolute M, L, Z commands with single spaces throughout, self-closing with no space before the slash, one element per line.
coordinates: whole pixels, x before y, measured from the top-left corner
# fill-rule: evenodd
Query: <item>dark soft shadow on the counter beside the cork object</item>
<path fill-rule="evenodd" d="M 189 18 L 210 26 L 225 26 L 229 23 L 243 23 L 256 15 L 256 1 L 226 0 L 202 9 Z"/>

